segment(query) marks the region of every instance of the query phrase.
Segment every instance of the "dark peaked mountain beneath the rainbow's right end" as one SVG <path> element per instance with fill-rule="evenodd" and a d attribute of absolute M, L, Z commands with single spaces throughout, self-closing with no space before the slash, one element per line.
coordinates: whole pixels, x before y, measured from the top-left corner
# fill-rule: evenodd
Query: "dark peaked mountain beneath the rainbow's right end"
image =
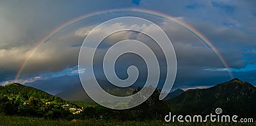
<path fill-rule="evenodd" d="M 221 108 L 227 114 L 256 116 L 256 87 L 234 79 L 211 88 L 187 90 L 168 103 L 178 114 L 204 115 Z"/>

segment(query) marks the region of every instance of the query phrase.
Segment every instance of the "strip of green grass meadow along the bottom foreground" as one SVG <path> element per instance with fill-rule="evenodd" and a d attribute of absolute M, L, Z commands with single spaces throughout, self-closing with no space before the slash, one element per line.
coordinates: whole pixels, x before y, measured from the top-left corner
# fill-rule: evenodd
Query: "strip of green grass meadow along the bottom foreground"
<path fill-rule="evenodd" d="M 22 117 L 22 116 L 4 116 L 0 115 L 0 125 L 255 125 L 255 123 L 166 123 L 159 120 L 146 122 L 116 120 L 46 120 L 44 118 Z"/>

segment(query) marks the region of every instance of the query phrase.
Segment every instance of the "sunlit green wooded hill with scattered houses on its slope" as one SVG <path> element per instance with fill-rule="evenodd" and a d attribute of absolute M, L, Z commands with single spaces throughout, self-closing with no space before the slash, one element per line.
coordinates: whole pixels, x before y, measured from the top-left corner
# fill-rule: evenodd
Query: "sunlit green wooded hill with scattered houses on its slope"
<path fill-rule="evenodd" d="M 72 118 L 77 111 L 82 110 L 76 104 L 33 87 L 19 83 L 0 86 L 0 113 L 4 115 Z"/>

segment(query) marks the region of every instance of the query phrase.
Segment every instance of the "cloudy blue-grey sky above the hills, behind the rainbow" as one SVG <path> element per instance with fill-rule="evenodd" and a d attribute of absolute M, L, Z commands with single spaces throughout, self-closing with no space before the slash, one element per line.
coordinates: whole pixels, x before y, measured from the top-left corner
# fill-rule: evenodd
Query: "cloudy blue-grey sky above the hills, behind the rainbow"
<path fill-rule="evenodd" d="M 0 84 L 17 81 L 33 87 L 51 90 L 57 94 L 74 83 L 79 83 L 78 73 L 86 69 L 77 67 L 79 50 L 87 34 L 100 23 L 115 17 L 135 16 L 145 18 L 159 25 L 171 39 L 177 55 L 177 76 L 173 88 L 205 88 L 232 77 L 256 85 L 256 1 L 212 0 L 212 1 L 170 1 L 170 0 L 94 0 L 94 1 L 0 1 Z M 54 29 L 77 17 L 90 13 L 115 9 L 115 13 L 100 13 L 84 18 L 56 32 L 33 50 Z M 221 63 L 216 54 L 195 35 L 182 26 L 164 17 L 121 10 L 150 10 L 181 20 L 203 34 L 225 59 L 229 69 Z M 120 11 L 118 11 L 120 10 Z M 113 29 L 125 27 L 116 24 Z M 137 27 L 141 27 L 138 25 Z M 141 27 L 147 30 L 148 27 Z M 152 29 L 150 29 L 152 30 Z M 154 29 L 153 29 L 154 31 Z M 104 31 L 102 31 L 104 33 Z M 102 33 L 102 34 L 103 34 Z M 102 52 L 122 39 L 147 41 L 154 50 L 157 47 L 148 36 L 136 32 L 117 32 L 106 38 L 99 48 L 95 67 L 99 79 L 98 59 Z M 156 51 L 156 53 L 161 53 Z M 31 55 L 33 54 L 33 55 Z M 31 56 L 20 74 L 22 63 Z M 159 59 L 163 60 L 161 54 Z M 162 62 L 162 61 L 160 61 Z M 118 65 L 119 63 L 119 65 Z M 116 63 L 116 73 L 127 78 L 127 67 L 136 64 L 145 73 L 145 63 L 140 57 L 127 55 Z M 164 68 L 164 67 L 163 67 Z M 161 75 L 164 74 L 164 70 Z M 139 76 L 139 84 L 147 76 Z M 161 83 L 164 77 L 161 77 Z M 90 78 L 88 78 L 90 80 Z M 50 85 L 50 86 L 49 86 Z M 62 88 L 60 88 L 62 87 Z M 59 90 L 58 90 L 59 89 Z"/>

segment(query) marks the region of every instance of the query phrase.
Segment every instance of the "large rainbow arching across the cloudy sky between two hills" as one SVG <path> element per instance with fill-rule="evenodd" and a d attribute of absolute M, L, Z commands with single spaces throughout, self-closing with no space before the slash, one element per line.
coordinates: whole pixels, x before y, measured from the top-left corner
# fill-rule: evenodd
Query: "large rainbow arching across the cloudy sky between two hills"
<path fill-rule="evenodd" d="M 66 22 L 65 24 L 62 24 L 58 27 L 56 27 L 52 32 L 50 32 L 49 34 L 47 34 L 47 36 L 45 36 L 32 50 L 31 53 L 28 55 L 28 57 L 24 60 L 24 62 L 22 62 L 22 65 L 20 66 L 20 69 L 17 73 L 17 75 L 15 76 L 15 82 L 17 82 L 19 80 L 19 77 L 22 73 L 22 71 L 24 70 L 24 68 L 26 67 L 26 64 L 28 63 L 29 59 L 32 57 L 32 55 L 36 52 L 36 50 L 38 50 L 38 48 L 40 47 L 40 45 L 42 45 L 43 43 L 45 43 L 46 41 L 48 41 L 49 39 L 51 39 L 52 36 L 54 36 L 55 34 L 57 34 L 59 31 L 61 31 L 62 29 L 65 29 L 66 27 L 75 24 L 76 22 L 79 22 L 80 20 L 83 20 L 84 18 L 88 18 L 88 17 L 92 17 L 92 16 L 96 16 L 96 15 L 102 15 L 104 13 L 115 13 L 115 12 L 139 12 L 139 13 L 144 13 L 144 14 L 149 14 L 149 15 L 155 15 L 157 17 L 161 17 L 161 18 L 165 18 L 167 20 L 170 20 L 172 22 L 174 22 L 175 24 L 178 24 L 180 26 L 182 26 L 184 29 L 188 30 L 189 32 L 191 32 L 191 34 L 193 34 L 194 36 L 196 36 L 196 38 L 200 39 L 202 42 L 204 42 L 205 45 L 207 45 L 209 48 L 211 48 L 211 50 L 215 53 L 215 55 L 218 57 L 218 59 L 220 59 L 221 63 L 223 64 L 223 66 L 227 69 L 228 74 L 230 75 L 231 78 L 234 78 L 232 72 L 229 70 L 228 64 L 225 61 L 225 59 L 221 56 L 220 52 L 218 52 L 217 48 L 212 45 L 211 41 L 209 41 L 209 39 L 207 39 L 202 33 L 198 32 L 195 28 L 191 27 L 190 25 L 186 24 L 185 22 L 182 22 L 181 20 L 178 20 L 177 18 L 174 17 L 170 17 L 169 15 L 163 14 L 163 13 L 159 13 L 156 11 L 152 11 L 152 10 L 142 10 L 142 9 L 137 9 L 137 8 L 128 8 L 128 9 L 115 9 L 115 10 L 105 10 L 105 11 L 97 11 L 95 13 L 90 13 L 90 14 L 86 14 L 83 15 L 81 17 L 77 17 L 74 18 L 68 22 Z"/>

